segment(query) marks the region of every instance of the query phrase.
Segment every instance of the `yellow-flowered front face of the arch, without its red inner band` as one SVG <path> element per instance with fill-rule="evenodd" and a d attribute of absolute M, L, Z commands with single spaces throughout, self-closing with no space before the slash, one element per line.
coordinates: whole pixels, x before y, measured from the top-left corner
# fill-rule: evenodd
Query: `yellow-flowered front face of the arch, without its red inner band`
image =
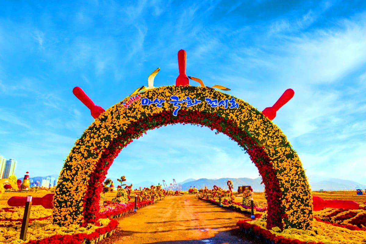
<path fill-rule="evenodd" d="M 190 97 L 201 100 L 194 106 L 186 107 L 185 103 L 178 111 L 199 111 L 202 113 L 219 115 L 225 119 L 234 121 L 240 131 L 257 142 L 257 146 L 264 148 L 265 153 L 272 160 L 275 175 L 279 181 L 281 191 L 280 204 L 282 207 L 284 228 L 296 226 L 306 229 L 310 227 L 312 218 L 312 199 L 309 183 L 305 171 L 296 152 L 292 149 L 283 132 L 261 112 L 247 102 L 231 95 L 207 89 L 205 87 L 176 87 L 165 86 L 145 91 L 140 100 L 132 102 L 128 108 L 123 106 L 124 99 L 107 109 L 87 128 L 65 160 L 54 197 L 53 221 L 59 225 L 81 224 L 83 222 L 83 200 L 88 188 L 88 181 L 93 173 L 101 154 L 117 138 L 123 136 L 131 123 L 141 119 L 147 119 L 169 111 L 171 114 L 176 109 L 169 103 L 171 96 L 178 96 L 179 100 Z M 143 106 L 141 100 L 149 98 L 150 101 L 165 100 L 161 107 L 157 104 Z M 222 100 L 235 99 L 239 108 L 212 107 L 205 98 Z M 230 106 L 230 104 L 229 104 Z M 172 115 L 173 116 L 173 115 Z M 161 125 L 164 125 L 162 122 Z M 134 138 L 125 138 L 124 145 Z M 104 174 L 107 174 L 105 170 Z M 266 179 L 265 175 L 262 175 Z"/>

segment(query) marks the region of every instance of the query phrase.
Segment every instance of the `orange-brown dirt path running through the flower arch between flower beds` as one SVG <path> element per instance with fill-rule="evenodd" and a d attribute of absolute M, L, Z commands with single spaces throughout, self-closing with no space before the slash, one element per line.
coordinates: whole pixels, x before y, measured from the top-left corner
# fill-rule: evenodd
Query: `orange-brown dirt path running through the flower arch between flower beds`
<path fill-rule="evenodd" d="M 259 244 L 236 227 L 244 215 L 195 198 L 170 196 L 119 219 L 116 233 L 100 244 Z"/>

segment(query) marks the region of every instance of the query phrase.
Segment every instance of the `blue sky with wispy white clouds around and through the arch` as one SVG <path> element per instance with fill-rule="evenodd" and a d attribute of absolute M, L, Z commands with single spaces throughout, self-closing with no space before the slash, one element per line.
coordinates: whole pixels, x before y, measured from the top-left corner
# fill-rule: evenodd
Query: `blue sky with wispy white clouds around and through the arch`
<path fill-rule="evenodd" d="M 18 177 L 59 173 L 93 122 L 72 89 L 107 109 L 157 67 L 154 86 L 174 85 L 179 49 L 187 75 L 229 87 L 258 110 L 294 89 L 273 122 L 306 174 L 366 184 L 365 1 L 6 1 L 0 154 L 18 161 Z M 170 183 L 259 173 L 226 135 L 170 125 L 121 151 L 108 177 L 122 175 Z"/>

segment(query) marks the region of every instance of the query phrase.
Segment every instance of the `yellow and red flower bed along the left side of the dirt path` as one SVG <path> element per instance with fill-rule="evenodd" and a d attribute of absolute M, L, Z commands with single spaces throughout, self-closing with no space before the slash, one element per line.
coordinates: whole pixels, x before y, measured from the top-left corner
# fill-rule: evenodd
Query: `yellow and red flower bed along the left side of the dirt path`
<path fill-rule="evenodd" d="M 152 204 L 145 200 L 137 203 L 137 208 Z M 96 225 L 59 226 L 52 223 L 52 210 L 42 206 L 32 206 L 27 229 L 27 240 L 19 238 L 24 207 L 4 207 L 0 209 L 0 243 L 30 243 L 30 244 L 81 244 L 87 240 L 93 241 L 101 236 L 111 235 L 118 226 L 117 218 L 134 210 L 135 203 L 119 203 L 107 206 L 100 214 Z M 20 218 L 21 217 L 21 218 Z"/>

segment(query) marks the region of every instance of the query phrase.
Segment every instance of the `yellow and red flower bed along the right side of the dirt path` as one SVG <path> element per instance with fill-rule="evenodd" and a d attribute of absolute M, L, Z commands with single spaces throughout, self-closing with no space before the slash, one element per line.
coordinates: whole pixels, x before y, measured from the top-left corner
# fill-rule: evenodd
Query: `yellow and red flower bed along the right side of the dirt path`
<path fill-rule="evenodd" d="M 199 198 L 200 200 L 219 205 L 214 199 Z M 229 207 L 239 210 L 243 213 L 251 213 L 250 207 L 241 206 L 240 203 L 222 204 L 222 207 Z M 239 207 L 239 208 L 238 208 Z M 263 208 L 254 208 L 255 211 Z M 272 244 L 363 244 L 366 243 L 366 208 L 365 204 L 360 205 L 360 209 L 330 209 L 325 208 L 321 211 L 314 211 L 314 217 L 311 230 L 299 230 L 288 228 L 281 231 L 278 227 L 270 230 L 266 229 L 266 212 L 264 214 L 255 214 L 255 220 L 244 219 L 236 225 L 240 230 L 247 234 L 252 234 L 264 243 Z M 261 215 L 263 218 L 261 218 Z M 343 223 L 343 224 L 337 224 Z"/>

